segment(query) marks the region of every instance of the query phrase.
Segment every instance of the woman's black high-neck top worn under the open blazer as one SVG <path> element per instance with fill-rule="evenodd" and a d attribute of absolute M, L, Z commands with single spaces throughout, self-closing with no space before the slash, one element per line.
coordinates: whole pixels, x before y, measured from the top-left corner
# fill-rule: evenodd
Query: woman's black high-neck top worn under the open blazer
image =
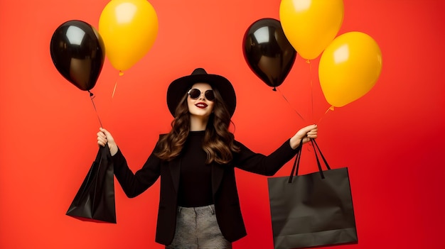
<path fill-rule="evenodd" d="M 181 152 L 181 179 L 178 206 L 206 206 L 213 204 L 212 167 L 205 164 L 203 150 L 205 131 L 191 131 Z"/>

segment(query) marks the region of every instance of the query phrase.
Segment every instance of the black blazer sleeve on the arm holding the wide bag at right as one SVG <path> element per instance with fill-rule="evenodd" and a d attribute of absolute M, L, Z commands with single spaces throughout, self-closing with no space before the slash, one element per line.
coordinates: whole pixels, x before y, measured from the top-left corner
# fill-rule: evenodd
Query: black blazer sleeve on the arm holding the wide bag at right
<path fill-rule="evenodd" d="M 286 140 L 270 155 L 254 153 L 242 143 L 237 142 L 240 145 L 240 153 L 234 155 L 234 166 L 259 175 L 275 175 L 286 162 L 289 162 L 301 150 L 301 146 L 295 150 L 292 149 L 289 140 Z"/>

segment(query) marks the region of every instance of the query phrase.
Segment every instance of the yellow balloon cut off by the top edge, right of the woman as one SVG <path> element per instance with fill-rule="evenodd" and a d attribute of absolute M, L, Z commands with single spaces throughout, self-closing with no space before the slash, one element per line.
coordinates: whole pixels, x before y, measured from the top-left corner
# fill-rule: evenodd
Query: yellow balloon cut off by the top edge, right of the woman
<path fill-rule="evenodd" d="M 343 23 L 343 0 L 282 0 L 279 18 L 287 40 L 312 60 L 336 37 Z"/>

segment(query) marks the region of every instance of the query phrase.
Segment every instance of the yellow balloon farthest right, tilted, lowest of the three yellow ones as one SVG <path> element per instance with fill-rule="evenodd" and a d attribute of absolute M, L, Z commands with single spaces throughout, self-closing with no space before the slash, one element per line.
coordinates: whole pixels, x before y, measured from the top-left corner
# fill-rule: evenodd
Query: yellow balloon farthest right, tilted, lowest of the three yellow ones
<path fill-rule="evenodd" d="M 382 52 L 365 33 L 339 35 L 321 55 L 318 79 L 329 104 L 345 106 L 367 94 L 382 71 Z"/>

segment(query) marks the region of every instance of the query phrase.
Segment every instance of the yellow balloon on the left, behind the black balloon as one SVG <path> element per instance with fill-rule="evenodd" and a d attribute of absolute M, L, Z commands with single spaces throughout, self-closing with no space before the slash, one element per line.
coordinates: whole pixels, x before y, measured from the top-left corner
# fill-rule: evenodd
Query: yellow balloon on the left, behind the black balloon
<path fill-rule="evenodd" d="M 158 26 L 148 1 L 109 1 L 100 15 L 99 33 L 112 66 L 122 72 L 141 60 L 153 46 Z"/>

